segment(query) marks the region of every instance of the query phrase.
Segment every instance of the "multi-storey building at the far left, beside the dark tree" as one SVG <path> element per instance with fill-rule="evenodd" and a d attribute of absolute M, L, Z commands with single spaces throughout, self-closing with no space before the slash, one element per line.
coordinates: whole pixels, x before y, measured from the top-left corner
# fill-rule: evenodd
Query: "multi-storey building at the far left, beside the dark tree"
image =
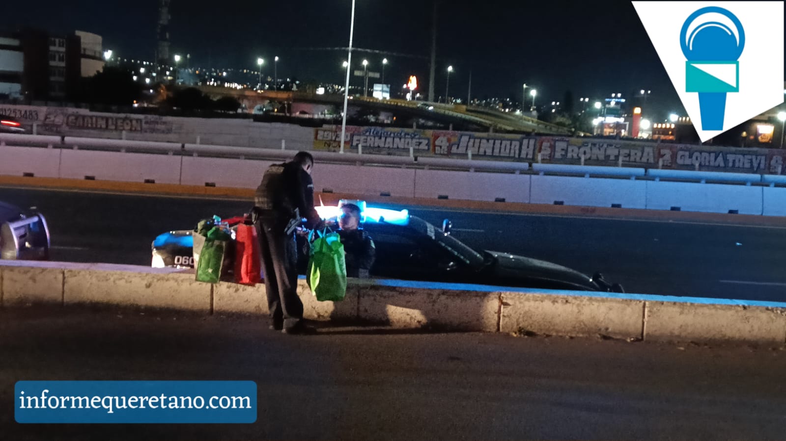
<path fill-rule="evenodd" d="M 0 98 L 65 100 L 104 68 L 101 36 L 24 29 L 0 34 Z"/>

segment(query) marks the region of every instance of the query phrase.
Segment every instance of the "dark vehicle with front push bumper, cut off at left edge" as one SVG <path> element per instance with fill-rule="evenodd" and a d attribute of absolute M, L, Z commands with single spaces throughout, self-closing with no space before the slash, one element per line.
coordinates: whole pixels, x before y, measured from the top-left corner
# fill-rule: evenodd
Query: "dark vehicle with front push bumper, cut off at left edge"
<path fill-rule="evenodd" d="M 43 215 L 35 208 L 0 202 L 0 259 L 46 261 L 49 253 L 50 232 Z"/>

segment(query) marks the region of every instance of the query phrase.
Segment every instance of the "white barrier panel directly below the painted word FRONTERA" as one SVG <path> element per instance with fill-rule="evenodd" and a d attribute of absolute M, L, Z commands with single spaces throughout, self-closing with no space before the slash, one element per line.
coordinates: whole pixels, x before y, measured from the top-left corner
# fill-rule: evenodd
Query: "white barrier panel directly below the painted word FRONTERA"
<path fill-rule="evenodd" d="M 604 179 L 594 177 L 532 177 L 532 203 L 564 202 L 570 206 L 605 206 L 646 208 L 647 183 L 643 180 Z"/>

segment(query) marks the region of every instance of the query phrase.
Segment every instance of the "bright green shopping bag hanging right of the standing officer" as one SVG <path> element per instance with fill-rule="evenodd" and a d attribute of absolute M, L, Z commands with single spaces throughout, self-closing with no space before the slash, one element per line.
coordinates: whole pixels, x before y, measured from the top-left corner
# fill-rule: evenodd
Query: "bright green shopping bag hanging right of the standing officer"
<path fill-rule="evenodd" d="M 347 295 L 347 264 L 338 233 L 320 237 L 311 245 L 307 281 L 318 301 L 343 301 Z"/>

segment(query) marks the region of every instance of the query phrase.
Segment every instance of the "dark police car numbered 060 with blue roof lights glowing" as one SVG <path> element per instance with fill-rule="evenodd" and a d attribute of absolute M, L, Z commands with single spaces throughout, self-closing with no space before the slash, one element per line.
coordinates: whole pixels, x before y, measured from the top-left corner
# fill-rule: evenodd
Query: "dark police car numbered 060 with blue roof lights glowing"
<path fill-rule="evenodd" d="M 618 283 L 606 282 L 600 273 L 593 277 L 581 272 L 496 251 L 476 251 L 450 235 L 450 221 L 437 228 L 408 210 L 362 208 L 362 228 L 376 246 L 376 261 L 370 275 L 384 279 L 428 282 L 473 283 L 550 290 L 624 292 Z M 318 206 L 327 224 L 335 224 L 339 206 Z M 152 266 L 193 268 L 191 231 L 171 231 L 152 243 Z M 302 250 L 298 246 L 298 250 Z M 306 259 L 299 259 L 299 272 L 305 273 Z"/>

